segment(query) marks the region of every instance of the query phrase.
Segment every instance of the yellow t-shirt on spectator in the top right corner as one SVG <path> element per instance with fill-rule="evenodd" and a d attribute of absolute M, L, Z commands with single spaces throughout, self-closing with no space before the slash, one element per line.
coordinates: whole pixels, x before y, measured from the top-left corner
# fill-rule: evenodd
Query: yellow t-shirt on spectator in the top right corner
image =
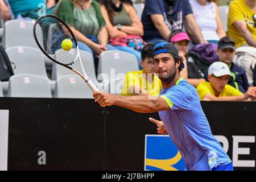
<path fill-rule="evenodd" d="M 245 0 L 237 0 L 230 2 L 228 14 L 228 36 L 234 40 L 236 47 L 246 44 L 246 40 L 242 37 L 240 32 L 234 26 L 237 20 L 244 20 L 247 24 L 248 30 L 256 40 L 256 28 L 254 27 L 253 15 L 255 12 L 250 9 Z"/>

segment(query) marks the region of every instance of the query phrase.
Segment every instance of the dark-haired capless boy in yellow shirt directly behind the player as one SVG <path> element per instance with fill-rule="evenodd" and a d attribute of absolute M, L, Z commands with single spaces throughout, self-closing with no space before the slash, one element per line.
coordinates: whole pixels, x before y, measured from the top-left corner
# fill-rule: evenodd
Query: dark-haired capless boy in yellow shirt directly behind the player
<path fill-rule="evenodd" d="M 134 96 L 135 94 L 149 94 L 158 96 L 162 90 L 159 78 L 154 74 L 153 65 L 153 44 L 147 44 L 142 49 L 141 71 L 126 73 L 125 82 L 121 94 L 124 96 Z"/>

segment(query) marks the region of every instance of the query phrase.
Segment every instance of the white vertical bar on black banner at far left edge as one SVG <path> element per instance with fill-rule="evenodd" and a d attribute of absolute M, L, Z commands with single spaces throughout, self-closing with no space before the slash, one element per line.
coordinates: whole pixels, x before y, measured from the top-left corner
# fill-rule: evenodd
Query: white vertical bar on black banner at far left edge
<path fill-rule="evenodd" d="M 7 171 L 9 110 L 0 110 L 0 171 Z"/>

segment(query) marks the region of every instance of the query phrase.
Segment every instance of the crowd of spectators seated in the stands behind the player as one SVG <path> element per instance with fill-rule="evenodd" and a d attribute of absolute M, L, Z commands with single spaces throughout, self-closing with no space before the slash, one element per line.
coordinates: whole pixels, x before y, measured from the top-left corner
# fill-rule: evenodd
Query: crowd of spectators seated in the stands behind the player
<path fill-rule="evenodd" d="M 152 48 L 170 42 L 183 59 L 181 75 L 197 88 L 201 100 L 253 100 L 255 0 L 0 0 L 1 18 L 37 19 L 40 3 L 46 14 L 69 25 L 79 48 L 89 52 L 96 65 L 100 54 L 109 50 L 129 52 L 137 58 L 140 70 L 126 74 L 123 95 L 160 93 Z M 141 17 L 133 3 L 144 3 Z M 224 5 L 229 6 L 228 31 L 218 9 Z"/>

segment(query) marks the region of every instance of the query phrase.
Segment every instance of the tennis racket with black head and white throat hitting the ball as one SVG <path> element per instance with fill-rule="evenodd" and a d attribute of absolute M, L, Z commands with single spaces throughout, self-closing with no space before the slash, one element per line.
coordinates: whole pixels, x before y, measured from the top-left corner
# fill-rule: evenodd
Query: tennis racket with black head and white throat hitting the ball
<path fill-rule="evenodd" d="M 51 36 L 48 35 L 49 29 L 53 30 Z M 38 47 L 44 55 L 53 62 L 60 64 L 79 75 L 93 92 L 98 91 L 98 88 L 94 85 L 92 80 L 90 80 L 84 70 L 76 38 L 63 20 L 53 15 L 42 16 L 36 20 L 33 33 L 36 44 L 38 44 Z M 65 39 L 72 41 L 72 48 L 68 51 L 61 48 L 61 43 L 63 43 L 63 40 Z M 82 73 L 71 67 L 77 59 L 79 60 Z"/>

